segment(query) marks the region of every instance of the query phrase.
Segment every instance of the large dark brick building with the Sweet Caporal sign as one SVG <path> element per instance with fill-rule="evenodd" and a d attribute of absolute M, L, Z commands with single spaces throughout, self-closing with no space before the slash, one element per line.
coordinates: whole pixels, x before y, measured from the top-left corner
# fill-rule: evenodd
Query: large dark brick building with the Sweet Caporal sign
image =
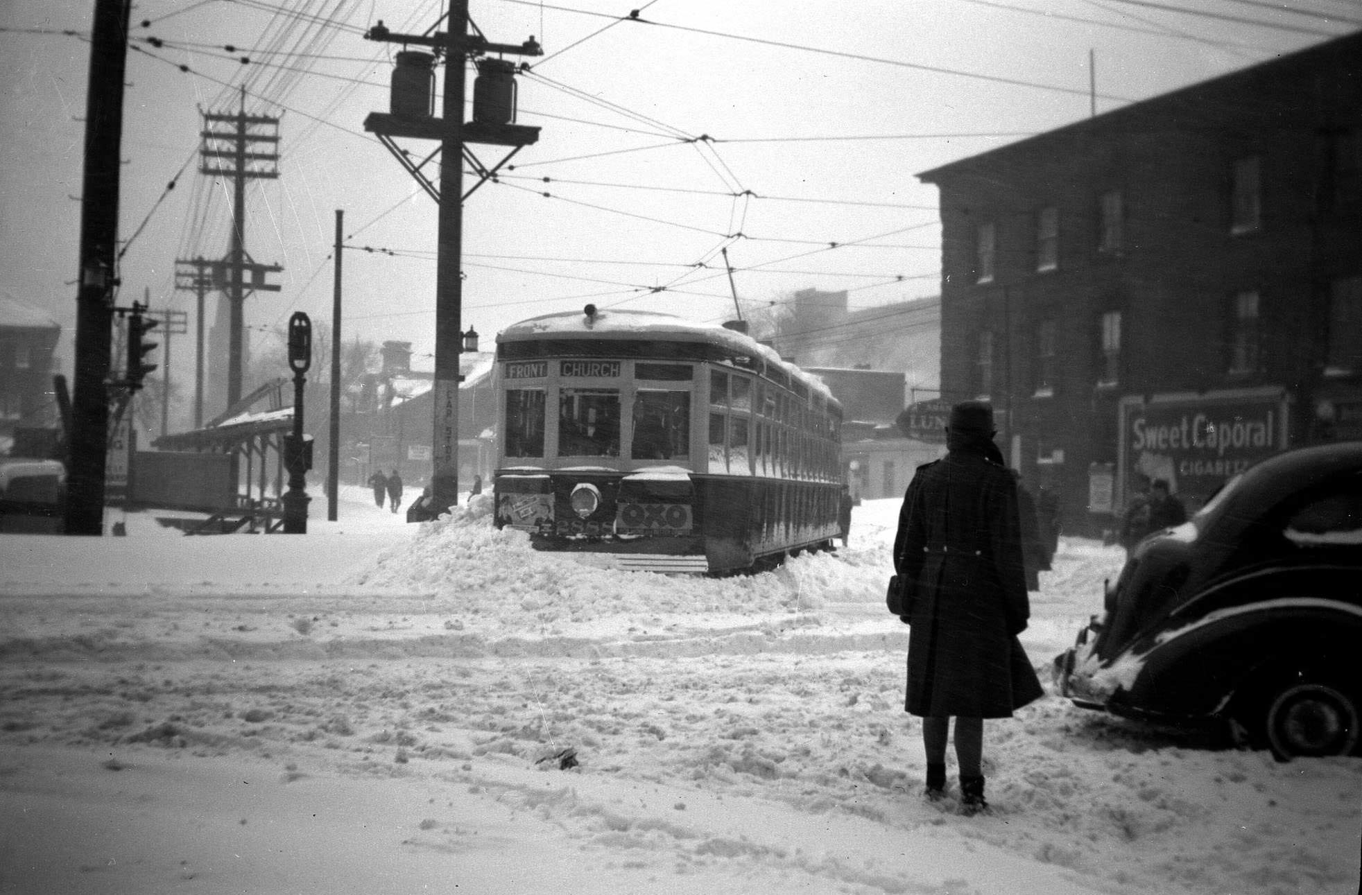
<path fill-rule="evenodd" d="M 1068 531 L 1362 439 L 1362 34 L 925 172 L 941 388 Z"/>

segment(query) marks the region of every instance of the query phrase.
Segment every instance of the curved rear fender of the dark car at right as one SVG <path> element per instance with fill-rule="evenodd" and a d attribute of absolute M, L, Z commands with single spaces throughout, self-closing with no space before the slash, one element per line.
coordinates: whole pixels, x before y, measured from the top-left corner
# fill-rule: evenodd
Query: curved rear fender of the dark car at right
<path fill-rule="evenodd" d="M 1140 672 L 1113 703 L 1141 714 L 1204 718 L 1220 714 L 1241 687 L 1269 668 L 1362 678 L 1362 608 L 1280 597 L 1218 609 L 1139 647 L 1132 651 L 1143 659 Z"/>

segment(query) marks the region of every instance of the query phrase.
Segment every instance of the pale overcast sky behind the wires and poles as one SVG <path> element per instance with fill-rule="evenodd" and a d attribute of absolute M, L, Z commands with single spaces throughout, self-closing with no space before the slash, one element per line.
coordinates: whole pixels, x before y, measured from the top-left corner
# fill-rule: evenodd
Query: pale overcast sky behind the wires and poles
<path fill-rule="evenodd" d="M 640 20 L 616 18 L 631 3 Z M 93 7 L 0 0 L 0 289 L 67 326 L 90 46 L 19 29 L 89 35 Z M 398 253 L 345 252 L 346 338 L 410 341 L 429 368 L 436 206 L 364 132 L 369 112 L 387 110 L 396 48 L 362 33 L 377 19 L 424 31 L 441 10 L 139 3 L 121 237 L 151 215 L 123 259 L 120 304 L 150 289 L 153 307 L 192 309 L 173 290 L 174 259 L 225 255 L 230 187 L 196 173 L 200 110 L 233 110 L 245 79 L 248 109 L 282 116 L 281 177 L 251 185 L 247 248 L 285 267 L 283 289 L 248 300 L 253 343 L 298 309 L 330 327 L 327 257 L 343 208 L 353 245 Z M 1087 117 L 1090 50 L 1102 113 L 1362 22 L 1357 0 L 471 0 L 470 12 L 490 41 L 533 34 L 545 48 L 519 78 L 519 123 L 542 128 L 538 144 L 464 206 L 464 328 L 488 341 L 588 301 L 729 319 L 722 247 L 748 313 L 805 287 L 847 289 L 853 307 L 936 294 L 937 193 L 914 174 Z M 500 159 L 496 147 L 474 151 Z M 59 347 L 65 364 L 72 335 Z M 177 376 L 191 356 L 177 353 Z"/>

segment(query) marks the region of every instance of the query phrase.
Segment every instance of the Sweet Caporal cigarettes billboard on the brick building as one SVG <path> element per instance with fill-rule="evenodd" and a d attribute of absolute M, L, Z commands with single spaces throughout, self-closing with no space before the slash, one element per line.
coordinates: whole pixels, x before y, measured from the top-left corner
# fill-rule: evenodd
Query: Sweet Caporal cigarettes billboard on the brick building
<path fill-rule="evenodd" d="M 1286 450 L 1286 407 L 1280 392 L 1124 405 L 1124 492 L 1137 490 L 1141 475 L 1162 478 L 1189 509 L 1201 505 L 1229 478 Z"/>

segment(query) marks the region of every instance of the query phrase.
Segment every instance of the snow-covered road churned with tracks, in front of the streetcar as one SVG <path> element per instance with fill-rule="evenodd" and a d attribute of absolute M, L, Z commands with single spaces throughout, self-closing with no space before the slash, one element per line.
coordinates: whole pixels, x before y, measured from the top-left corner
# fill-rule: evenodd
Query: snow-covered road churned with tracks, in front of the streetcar
<path fill-rule="evenodd" d="M 0 541 L 0 891 L 1357 891 L 1358 760 L 1054 696 L 986 726 L 992 815 L 925 804 L 896 501 L 723 580 L 343 508 L 305 541 Z M 1038 666 L 1118 563 L 1064 542 Z"/>

